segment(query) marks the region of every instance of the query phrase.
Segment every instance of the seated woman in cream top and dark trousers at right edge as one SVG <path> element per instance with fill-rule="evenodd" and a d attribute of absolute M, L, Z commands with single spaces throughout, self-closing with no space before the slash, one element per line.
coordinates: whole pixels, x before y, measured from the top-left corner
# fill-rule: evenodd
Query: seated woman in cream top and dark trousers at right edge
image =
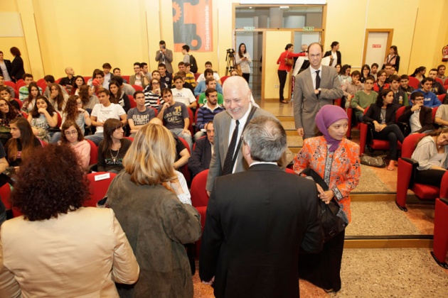
<path fill-rule="evenodd" d="M 415 182 L 440 187 L 448 169 L 448 128 L 439 128 L 422 138 L 411 158 L 418 162 Z"/>

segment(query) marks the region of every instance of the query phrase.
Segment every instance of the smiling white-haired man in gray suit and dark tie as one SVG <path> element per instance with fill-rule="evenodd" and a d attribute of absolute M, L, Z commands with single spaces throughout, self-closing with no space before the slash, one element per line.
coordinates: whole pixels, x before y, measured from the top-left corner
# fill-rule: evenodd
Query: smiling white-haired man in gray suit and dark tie
<path fill-rule="evenodd" d="M 275 118 L 269 112 L 253 106 L 250 96 L 249 85 L 243 77 L 228 77 L 225 80 L 223 97 L 226 110 L 213 118 L 215 138 L 207 177 L 206 189 L 208 194 L 210 194 L 213 188 L 213 181 L 216 177 L 242 172 L 249 168 L 247 162 L 242 158 L 241 135 L 245 124 L 250 121 L 250 118 L 257 118 L 258 116 Z M 237 126 L 238 129 L 235 129 Z M 236 140 L 234 145 L 232 145 L 233 139 Z M 228 149 L 232 147 L 233 151 L 227 156 Z M 226 159 L 230 160 L 230 164 L 225 162 Z"/>

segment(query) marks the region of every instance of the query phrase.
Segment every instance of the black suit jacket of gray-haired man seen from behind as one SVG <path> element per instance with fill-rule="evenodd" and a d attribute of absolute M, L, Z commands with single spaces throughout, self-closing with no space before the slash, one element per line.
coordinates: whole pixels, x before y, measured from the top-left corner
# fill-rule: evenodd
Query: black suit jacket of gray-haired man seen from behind
<path fill-rule="evenodd" d="M 277 165 L 216 178 L 199 275 L 215 297 L 299 297 L 299 250 L 318 253 L 316 184 Z"/>

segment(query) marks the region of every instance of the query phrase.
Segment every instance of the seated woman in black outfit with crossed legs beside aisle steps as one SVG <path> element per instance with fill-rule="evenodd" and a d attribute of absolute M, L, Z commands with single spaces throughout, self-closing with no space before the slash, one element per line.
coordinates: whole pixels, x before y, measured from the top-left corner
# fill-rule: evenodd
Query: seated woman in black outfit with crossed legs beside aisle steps
<path fill-rule="evenodd" d="M 383 89 L 378 94 L 375 104 L 370 104 L 363 121 L 371 122 L 375 126 L 373 138 L 377 140 L 389 140 L 389 166 L 388 170 L 393 171 L 395 161 L 398 160 L 398 142 L 405 139 L 400 128 L 395 123 L 397 106 L 392 104 L 393 92 L 390 89 Z"/>

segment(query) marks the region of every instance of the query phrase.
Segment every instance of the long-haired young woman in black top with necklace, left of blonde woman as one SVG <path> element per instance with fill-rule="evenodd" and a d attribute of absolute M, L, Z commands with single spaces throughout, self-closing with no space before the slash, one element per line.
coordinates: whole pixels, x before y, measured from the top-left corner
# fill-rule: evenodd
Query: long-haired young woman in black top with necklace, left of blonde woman
<path fill-rule="evenodd" d="M 104 123 L 104 138 L 98 146 L 98 172 L 118 173 L 123 170 L 123 158 L 132 141 L 123 138 L 123 123 L 109 118 Z"/>

